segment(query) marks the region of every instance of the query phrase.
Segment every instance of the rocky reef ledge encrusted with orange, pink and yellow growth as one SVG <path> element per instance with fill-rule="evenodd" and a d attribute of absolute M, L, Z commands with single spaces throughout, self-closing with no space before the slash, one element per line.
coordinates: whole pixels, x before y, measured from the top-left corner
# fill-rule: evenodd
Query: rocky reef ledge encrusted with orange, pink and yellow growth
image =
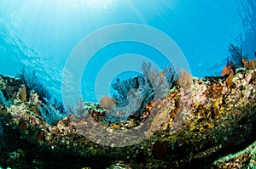
<path fill-rule="evenodd" d="M 2 102 L 9 103 L 0 104 L 0 166 L 4 168 L 256 166 L 255 69 L 237 70 L 231 79 L 193 77 L 189 88 L 176 87 L 148 104 L 148 120 L 136 125 L 134 121 L 102 124 L 111 131 L 145 123 L 145 132 L 137 133 L 144 138 L 141 142 L 118 147 L 102 145 L 104 137 L 119 137 L 90 131 L 95 123 L 86 118 L 68 115 L 50 126 L 38 113 L 38 94 L 26 96 L 19 79 L 0 76 L 0 87 Z M 95 134 L 99 142 L 90 141 L 84 131 Z"/>

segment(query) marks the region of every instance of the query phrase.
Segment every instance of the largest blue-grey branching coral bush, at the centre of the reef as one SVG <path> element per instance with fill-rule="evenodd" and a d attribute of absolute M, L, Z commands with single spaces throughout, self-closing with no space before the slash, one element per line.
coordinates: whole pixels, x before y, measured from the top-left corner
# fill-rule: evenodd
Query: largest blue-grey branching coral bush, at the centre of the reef
<path fill-rule="evenodd" d="M 166 92 L 176 84 L 179 76 L 173 65 L 166 66 L 160 71 L 152 67 L 150 62 L 143 62 L 142 70 L 143 75 L 123 82 L 118 79 L 112 84 L 113 89 L 119 93 L 113 95 L 117 107 L 106 113 L 106 121 L 126 121 L 129 116 L 133 118 L 140 116 L 150 101 L 165 97 Z"/>

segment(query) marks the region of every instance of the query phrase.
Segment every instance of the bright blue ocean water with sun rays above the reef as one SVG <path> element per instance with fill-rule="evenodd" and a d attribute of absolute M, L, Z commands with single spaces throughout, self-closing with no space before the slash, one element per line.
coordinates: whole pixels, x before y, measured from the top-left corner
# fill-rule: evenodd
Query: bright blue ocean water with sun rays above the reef
<path fill-rule="evenodd" d="M 248 57 L 253 57 L 256 49 L 255 0 L 2 0 L 0 73 L 15 76 L 22 67 L 36 70 L 55 98 L 61 99 L 63 70 L 79 42 L 106 26 L 125 23 L 148 25 L 171 37 L 193 76 L 218 76 L 229 56 L 230 42 L 241 47 Z M 127 31 L 128 36 L 133 33 Z M 120 70 L 108 82 L 97 81 L 104 65 L 123 54 L 142 55 L 160 68 L 167 63 L 155 48 L 138 42 L 102 47 L 82 70 L 84 100 L 97 101 L 96 88 L 107 86 L 112 93 L 110 82 L 116 76 L 137 75 L 129 69 Z M 106 68 L 105 73 L 112 74 L 113 67 L 134 65 L 133 60 L 116 64 Z M 100 91 L 99 97 L 102 95 L 106 93 Z"/>

